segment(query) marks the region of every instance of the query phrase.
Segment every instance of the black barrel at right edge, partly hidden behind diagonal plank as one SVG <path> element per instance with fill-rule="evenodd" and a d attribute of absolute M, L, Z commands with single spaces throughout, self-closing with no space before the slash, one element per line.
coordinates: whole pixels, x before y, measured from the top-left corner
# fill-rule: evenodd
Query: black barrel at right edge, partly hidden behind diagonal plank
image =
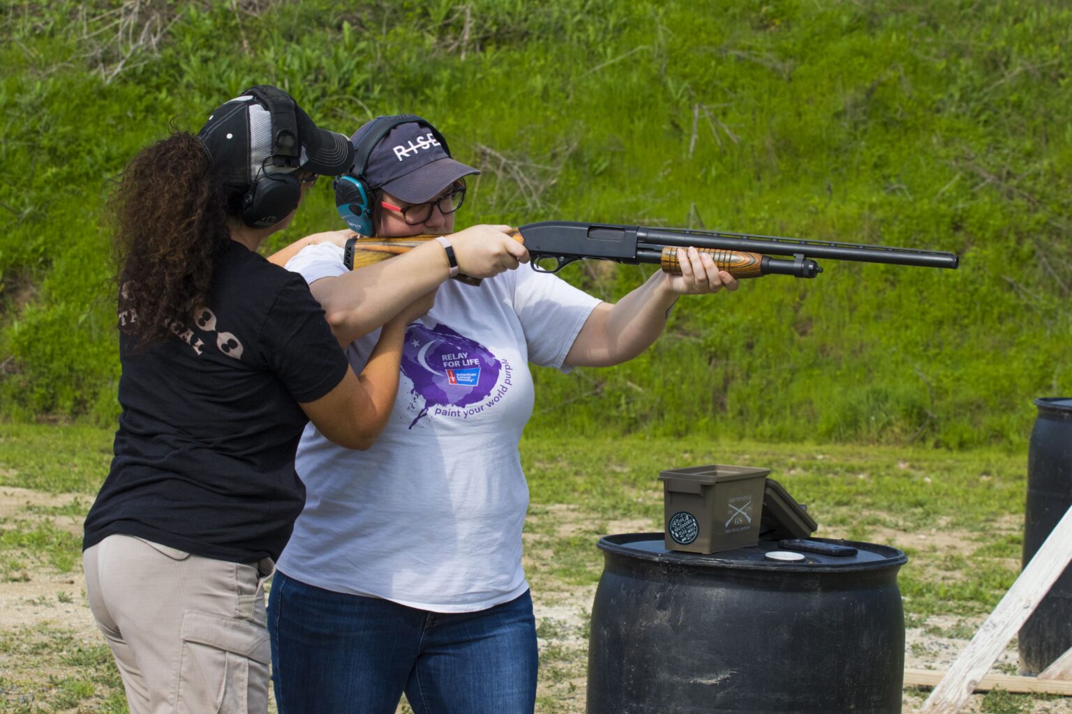
<path fill-rule="evenodd" d="M 1027 452 L 1024 565 L 1072 506 L 1072 398 L 1034 400 Z M 1072 567 L 1064 571 L 1019 631 L 1019 667 L 1038 674 L 1072 648 Z"/>

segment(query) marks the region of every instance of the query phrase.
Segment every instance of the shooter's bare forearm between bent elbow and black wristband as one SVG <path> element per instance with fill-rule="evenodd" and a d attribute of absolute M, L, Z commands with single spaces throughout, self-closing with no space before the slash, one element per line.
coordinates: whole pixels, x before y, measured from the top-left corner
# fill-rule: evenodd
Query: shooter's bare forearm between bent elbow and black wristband
<path fill-rule="evenodd" d="M 429 241 L 390 260 L 315 280 L 310 289 L 331 332 L 345 346 L 434 290 L 449 274 L 443 246 Z"/>

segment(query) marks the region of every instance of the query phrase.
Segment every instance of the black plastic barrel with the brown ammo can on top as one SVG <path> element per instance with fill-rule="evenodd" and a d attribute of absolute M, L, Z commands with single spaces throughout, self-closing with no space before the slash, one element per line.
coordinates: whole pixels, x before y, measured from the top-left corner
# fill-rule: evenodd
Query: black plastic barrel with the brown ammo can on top
<path fill-rule="evenodd" d="M 905 553 L 852 543 L 801 563 L 774 542 L 712 556 L 662 533 L 599 541 L 589 714 L 899 714 Z"/>

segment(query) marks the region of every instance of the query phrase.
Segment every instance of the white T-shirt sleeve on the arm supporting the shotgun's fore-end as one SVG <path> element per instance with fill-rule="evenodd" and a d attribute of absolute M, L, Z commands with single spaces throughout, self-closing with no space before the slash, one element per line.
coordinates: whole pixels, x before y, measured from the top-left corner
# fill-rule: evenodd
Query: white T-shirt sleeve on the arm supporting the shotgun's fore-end
<path fill-rule="evenodd" d="M 569 371 L 563 362 L 600 301 L 556 275 L 522 265 L 513 271 L 513 309 L 528 345 L 528 361 Z"/>

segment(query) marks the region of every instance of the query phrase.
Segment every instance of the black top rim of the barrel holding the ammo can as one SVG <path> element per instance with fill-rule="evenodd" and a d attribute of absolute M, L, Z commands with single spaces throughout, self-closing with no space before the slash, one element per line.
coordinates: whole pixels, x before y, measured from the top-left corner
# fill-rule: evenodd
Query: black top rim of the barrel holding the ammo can
<path fill-rule="evenodd" d="M 726 560 L 725 558 L 719 558 L 718 553 L 712 553 L 710 556 L 704 556 L 701 553 L 659 553 L 659 552 L 647 552 L 644 550 L 638 550 L 636 548 L 626 547 L 629 543 L 636 543 L 638 541 L 647 540 L 662 540 L 664 534 L 661 531 L 654 533 L 616 533 L 614 535 L 605 535 L 599 538 L 596 543 L 596 547 L 606 553 L 612 553 L 614 556 L 621 556 L 623 558 L 630 558 L 635 560 L 645 560 L 653 563 L 659 563 L 661 565 L 668 565 L 672 567 L 685 567 L 685 568 L 710 568 L 710 569 L 728 569 L 728 571 L 763 571 L 765 573 L 851 573 L 859 571 L 881 571 L 890 567 L 900 567 L 908 562 L 908 556 L 904 551 L 898 550 L 892 546 L 878 545 L 876 543 L 863 543 L 860 541 L 832 541 L 830 538 L 813 538 L 814 541 L 821 541 L 825 543 L 839 543 L 848 546 L 855 546 L 858 548 L 863 548 L 872 552 L 878 552 L 887 556 L 887 560 L 869 561 L 865 563 L 850 562 L 839 564 L 839 563 L 822 563 L 822 564 L 809 564 L 809 565 L 796 565 L 794 563 L 777 563 L 772 564 L 771 562 L 756 562 L 750 563 L 747 561 L 739 560 Z"/>

